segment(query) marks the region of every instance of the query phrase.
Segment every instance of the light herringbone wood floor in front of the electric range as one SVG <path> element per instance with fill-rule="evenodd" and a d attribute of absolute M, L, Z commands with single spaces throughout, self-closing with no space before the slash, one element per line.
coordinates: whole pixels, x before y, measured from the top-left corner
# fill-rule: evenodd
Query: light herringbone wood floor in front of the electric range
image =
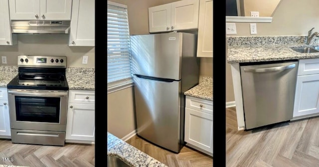
<path fill-rule="evenodd" d="M 26 167 L 94 167 L 95 147 L 87 144 L 42 146 L 0 140 L 0 165 Z M 12 162 L 2 158 L 13 158 Z"/>

